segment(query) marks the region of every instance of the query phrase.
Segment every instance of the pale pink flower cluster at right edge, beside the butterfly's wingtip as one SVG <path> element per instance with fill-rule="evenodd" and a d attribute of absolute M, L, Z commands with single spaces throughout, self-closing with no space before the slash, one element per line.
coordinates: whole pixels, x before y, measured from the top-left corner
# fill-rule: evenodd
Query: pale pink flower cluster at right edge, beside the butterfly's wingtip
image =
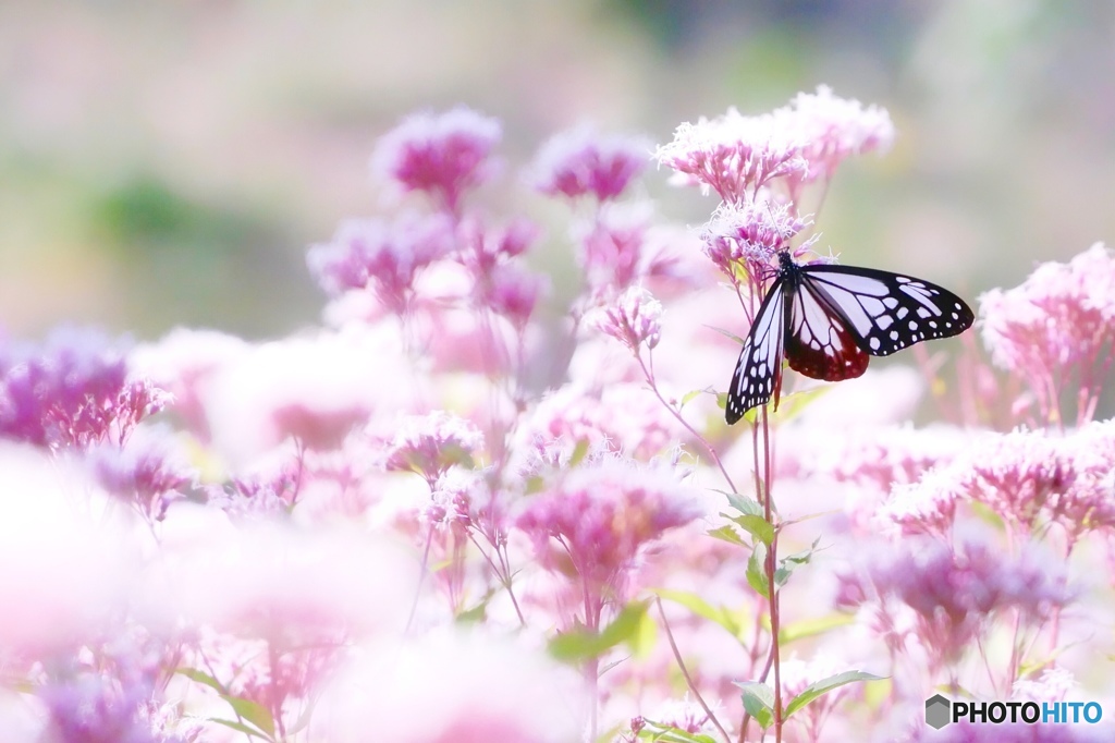
<path fill-rule="evenodd" d="M 1019 287 L 980 297 L 983 342 L 992 360 L 1021 377 L 1041 415 L 1060 419 L 1074 389 L 1077 419 L 1092 418 L 1115 341 L 1115 257 L 1097 243 L 1068 263 L 1043 263 Z"/>

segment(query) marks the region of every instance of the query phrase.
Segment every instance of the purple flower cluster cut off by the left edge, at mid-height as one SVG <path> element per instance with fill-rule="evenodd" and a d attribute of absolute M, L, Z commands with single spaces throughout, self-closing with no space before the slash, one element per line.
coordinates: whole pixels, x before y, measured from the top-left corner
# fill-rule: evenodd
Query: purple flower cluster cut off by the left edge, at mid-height
<path fill-rule="evenodd" d="M 0 351 L 0 435 L 51 450 L 124 444 L 167 396 L 129 378 L 119 344 L 95 330 L 54 331 L 41 347 Z"/>

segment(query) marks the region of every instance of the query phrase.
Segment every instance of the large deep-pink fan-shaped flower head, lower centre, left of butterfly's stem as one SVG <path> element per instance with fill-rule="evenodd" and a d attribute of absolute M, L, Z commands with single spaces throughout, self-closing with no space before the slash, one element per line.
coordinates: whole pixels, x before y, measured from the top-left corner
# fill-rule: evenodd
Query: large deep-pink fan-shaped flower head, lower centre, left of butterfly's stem
<path fill-rule="evenodd" d="M 585 590 L 583 621 L 623 600 L 627 572 L 649 544 L 698 518 L 694 495 L 663 466 L 608 459 L 576 467 L 531 498 L 515 525 L 550 569 L 571 567 Z"/>

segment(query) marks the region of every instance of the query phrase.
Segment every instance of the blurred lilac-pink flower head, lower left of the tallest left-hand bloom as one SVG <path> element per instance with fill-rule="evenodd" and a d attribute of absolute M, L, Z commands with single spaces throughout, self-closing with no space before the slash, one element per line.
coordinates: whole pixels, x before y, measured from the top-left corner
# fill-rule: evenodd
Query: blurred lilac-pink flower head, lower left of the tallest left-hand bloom
<path fill-rule="evenodd" d="M 444 258 L 454 244 L 453 223 L 444 215 L 349 220 L 331 242 L 310 248 L 307 263 L 330 296 L 370 287 L 390 311 L 405 313 L 419 271 Z"/>

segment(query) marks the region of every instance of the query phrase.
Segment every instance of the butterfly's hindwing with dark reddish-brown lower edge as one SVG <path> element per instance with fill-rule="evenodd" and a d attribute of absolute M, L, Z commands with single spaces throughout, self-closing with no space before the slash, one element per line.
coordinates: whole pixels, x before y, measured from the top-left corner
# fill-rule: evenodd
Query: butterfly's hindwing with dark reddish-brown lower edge
<path fill-rule="evenodd" d="M 798 273 L 789 300 L 786 360 L 789 368 L 814 379 L 838 382 L 867 369 L 867 355 L 854 328 L 833 299 Z"/>

